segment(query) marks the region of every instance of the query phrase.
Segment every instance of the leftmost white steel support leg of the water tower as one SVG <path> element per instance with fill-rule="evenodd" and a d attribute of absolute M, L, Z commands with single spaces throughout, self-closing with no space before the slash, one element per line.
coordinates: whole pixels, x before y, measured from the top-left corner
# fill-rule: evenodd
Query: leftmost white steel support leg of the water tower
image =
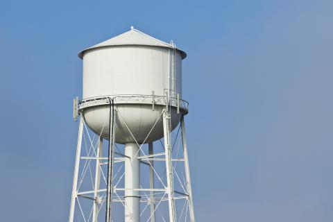
<path fill-rule="evenodd" d="M 75 211 L 75 203 L 77 198 L 77 187 L 78 187 L 78 169 L 80 165 L 80 154 L 81 154 L 81 144 L 82 144 L 82 136 L 83 136 L 83 117 L 80 116 L 80 123 L 78 126 L 78 144 L 76 146 L 76 159 L 75 159 L 75 167 L 74 167 L 74 178 L 73 178 L 73 189 L 71 191 L 71 210 L 69 212 L 69 222 L 74 221 L 74 211 Z"/>

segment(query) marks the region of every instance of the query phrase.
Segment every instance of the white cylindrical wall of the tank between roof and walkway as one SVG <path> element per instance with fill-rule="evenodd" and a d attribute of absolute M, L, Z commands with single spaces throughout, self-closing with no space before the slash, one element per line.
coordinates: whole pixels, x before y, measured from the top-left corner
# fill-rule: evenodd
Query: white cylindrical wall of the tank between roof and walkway
<path fill-rule="evenodd" d="M 176 89 L 169 86 L 169 71 L 173 69 L 172 49 L 155 46 L 112 46 L 91 49 L 83 56 L 83 99 L 117 94 L 144 94 L 152 91 L 157 96 L 170 89 L 180 94 L 182 58 L 176 53 Z"/>

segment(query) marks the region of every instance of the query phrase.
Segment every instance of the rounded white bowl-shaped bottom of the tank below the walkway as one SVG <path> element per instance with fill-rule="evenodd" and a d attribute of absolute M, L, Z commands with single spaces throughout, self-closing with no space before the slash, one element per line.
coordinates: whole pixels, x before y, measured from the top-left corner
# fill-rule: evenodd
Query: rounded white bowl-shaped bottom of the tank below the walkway
<path fill-rule="evenodd" d="M 87 108 L 83 112 L 85 121 L 97 135 L 108 139 L 109 137 L 109 105 L 99 105 Z M 155 110 L 151 110 L 151 105 L 145 104 L 119 104 L 117 105 L 117 117 L 115 119 L 115 137 L 119 144 L 135 142 L 142 144 L 153 142 L 163 137 L 163 122 L 160 114 L 164 106 L 155 105 Z M 177 109 L 172 108 L 172 128 L 176 128 L 180 121 L 180 114 Z M 156 122 L 157 121 L 157 122 Z M 150 135 L 148 133 L 154 126 Z M 128 130 L 130 129 L 130 131 Z M 133 135 L 131 133 L 133 133 Z M 147 137 L 148 135 L 148 137 Z M 135 137 L 135 139 L 133 138 Z M 147 138 L 146 138 L 147 137 Z"/>

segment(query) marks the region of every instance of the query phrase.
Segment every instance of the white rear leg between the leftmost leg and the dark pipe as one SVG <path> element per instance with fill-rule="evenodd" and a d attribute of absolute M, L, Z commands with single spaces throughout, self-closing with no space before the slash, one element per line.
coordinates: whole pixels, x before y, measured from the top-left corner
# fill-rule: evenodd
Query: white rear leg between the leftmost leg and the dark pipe
<path fill-rule="evenodd" d="M 99 204 L 101 200 L 99 197 L 99 185 L 101 182 L 101 157 L 103 149 L 103 138 L 99 138 L 99 145 L 96 151 L 96 171 L 95 171 L 95 185 L 94 185 L 94 209 L 92 212 L 92 221 L 97 222 L 99 219 Z"/>

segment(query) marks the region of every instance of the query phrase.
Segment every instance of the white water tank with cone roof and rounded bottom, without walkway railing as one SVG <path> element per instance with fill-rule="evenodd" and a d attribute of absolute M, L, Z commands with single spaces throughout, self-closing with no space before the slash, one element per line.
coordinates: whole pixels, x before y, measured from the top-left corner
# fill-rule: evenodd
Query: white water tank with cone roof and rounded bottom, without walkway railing
<path fill-rule="evenodd" d="M 152 92 L 156 96 L 164 96 L 165 92 L 171 97 L 179 94 L 181 98 L 184 52 L 135 30 L 114 39 L 117 41 L 110 39 L 79 54 L 83 58 L 83 99 L 151 95 Z M 146 143 L 162 138 L 163 108 L 164 105 L 155 105 L 152 110 L 151 105 L 144 103 L 117 104 L 116 142 Z M 83 110 L 87 126 L 105 139 L 109 137 L 109 116 L 110 105 Z M 180 114 L 171 106 L 171 127 L 176 128 L 179 121 Z"/>

